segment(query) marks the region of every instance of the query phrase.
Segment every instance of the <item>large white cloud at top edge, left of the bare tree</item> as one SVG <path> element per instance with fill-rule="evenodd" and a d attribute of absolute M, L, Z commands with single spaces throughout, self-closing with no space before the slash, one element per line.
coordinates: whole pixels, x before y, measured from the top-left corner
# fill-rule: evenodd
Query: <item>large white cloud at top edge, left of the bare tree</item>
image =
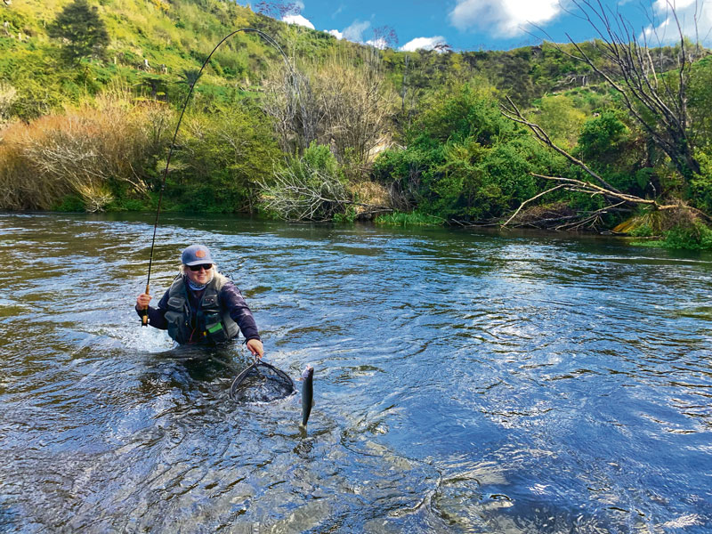
<path fill-rule="evenodd" d="M 457 0 L 449 19 L 461 30 L 479 28 L 511 37 L 523 33 L 529 23 L 548 22 L 560 12 L 559 0 Z"/>

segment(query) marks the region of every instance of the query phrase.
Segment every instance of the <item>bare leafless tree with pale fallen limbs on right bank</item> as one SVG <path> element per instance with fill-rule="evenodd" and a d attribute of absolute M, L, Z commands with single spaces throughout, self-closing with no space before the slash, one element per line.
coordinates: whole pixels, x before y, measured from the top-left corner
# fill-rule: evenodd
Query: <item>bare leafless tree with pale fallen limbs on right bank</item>
<path fill-rule="evenodd" d="M 600 54 L 597 59 L 585 47 L 577 44 L 569 37 L 572 48 L 554 44 L 560 52 L 586 63 L 599 77 L 611 86 L 621 96 L 627 111 L 635 121 L 642 126 L 643 131 L 651 140 L 663 150 L 677 172 L 689 180 L 700 172 L 699 162 L 694 156 L 692 143 L 692 125 L 687 109 L 687 82 L 691 66 L 699 58 L 700 47 L 691 50 L 684 36 L 682 26 L 677 19 L 673 4 L 669 3 L 670 20 L 675 21 L 677 42 L 672 48 L 664 48 L 661 39 L 657 36 L 654 20 L 651 19 L 651 29 L 636 32 L 630 22 L 619 12 L 603 6 L 600 0 L 571 0 L 576 7 L 579 18 L 586 20 L 595 29 L 598 36 L 593 46 Z M 657 49 L 651 49 L 650 38 L 657 40 Z M 669 61 L 672 54 L 674 61 Z M 623 193 L 603 176 L 597 174 L 590 166 L 569 152 L 558 147 L 546 134 L 543 128 L 524 117 L 514 101 L 507 99 L 507 104 L 502 106 L 503 114 L 517 123 L 527 126 L 531 133 L 551 149 L 562 154 L 563 157 L 580 167 L 591 181 L 573 180 L 556 176 L 542 176 L 534 174 L 541 179 L 559 182 L 558 185 L 539 193 L 522 203 L 516 212 L 504 225 L 511 223 L 520 213 L 522 207 L 530 201 L 540 198 L 553 190 L 565 189 L 600 196 L 608 200 L 608 206 L 588 214 L 572 215 L 582 220 L 593 220 L 600 217 L 606 210 L 618 206 L 647 205 L 659 210 L 688 209 L 707 218 L 699 210 L 684 206 L 681 200 L 659 202 L 656 198 L 640 198 L 635 195 Z M 567 215 L 568 217 L 568 215 Z"/>

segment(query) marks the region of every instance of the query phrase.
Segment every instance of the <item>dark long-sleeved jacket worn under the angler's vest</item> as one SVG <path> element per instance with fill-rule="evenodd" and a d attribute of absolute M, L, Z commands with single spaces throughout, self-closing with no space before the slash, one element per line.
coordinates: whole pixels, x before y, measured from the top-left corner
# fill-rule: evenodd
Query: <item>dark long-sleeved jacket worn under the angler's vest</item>
<path fill-rule="evenodd" d="M 214 284 L 215 280 L 222 275 L 216 274 L 214 279 L 211 280 L 210 284 Z M 178 281 L 180 279 L 176 279 Z M 201 303 L 203 295 L 205 295 L 206 290 L 196 291 L 190 289 L 188 286 L 187 279 L 182 277 L 182 282 L 184 283 L 185 293 L 188 297 L 188 308 L 190 310 L 190 317 L 186 317 L 187 322 L 190 323 L 190 328 L 195 330 L 194 335 L 185 336 L 186 339 L 176 339 L 179 343 L 196 343 L 199 341 L 205 341 L 203 338 L 203 332 L 201 328 L 205 328 L 205 325 L 199 324 L 201 321 L 198 320 L 200 315 Z M 208 285 L 210 285 L 208 284 Z M 174 282 L 175 285 L 175 282 Z M 171 290 L 168 289 L 163 295 L 161 300 L 158 302 L 158 308 L 153 308 L 149 306 L 149 324 L 154 328 L 159 328 L 161 330 L 169 329 L 168 321 L 166 320 L 166 312 L 169 311 L 168 300 L 170 298 Z M 220 287 L 218 293 L 218 304 L 223 312 L 227 312 L 230 319 L 237 323 L 242 335 L 245 336 L 245 340 L 250 339 L 260 339 L 260 335 L 257 331 L 257 325 L 255 324 L 255 318 L 247 307 L 247 303 L 239 291 L 239 288 L 230 279 L 223 279 L 222 287 Z M 142 316 L 142 310 L 136 310 L 140 316 Z M 190 334 L 190 332 L 189 332 Z M 237 332 L 235 332 L 237 334 Z"/>

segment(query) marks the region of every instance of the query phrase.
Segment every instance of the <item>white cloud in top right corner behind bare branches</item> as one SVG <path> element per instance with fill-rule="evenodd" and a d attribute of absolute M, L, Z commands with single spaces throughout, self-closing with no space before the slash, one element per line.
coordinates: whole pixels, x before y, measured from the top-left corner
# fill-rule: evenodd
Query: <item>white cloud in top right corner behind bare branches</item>
<path fill-rule="evenodd" d="M 643 32 L 648 44 L 651 46 L 669 44 L 680 39 L 673 9 L 684 36 L 692 39 L 700 38 L 703 44 L 710 43 L 712 7 L 707 3 L 695 2 L 695 0 L 670 0 L 669 2 L 656 0 L 653 4 L 655 26 L 651 24 Z"/>

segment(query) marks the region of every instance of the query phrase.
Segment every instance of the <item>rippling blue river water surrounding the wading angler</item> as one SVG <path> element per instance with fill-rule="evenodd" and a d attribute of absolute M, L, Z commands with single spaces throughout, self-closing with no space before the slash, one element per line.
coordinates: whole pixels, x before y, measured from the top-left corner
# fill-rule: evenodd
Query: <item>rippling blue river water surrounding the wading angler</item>
<path fill-rule="evenodd" d="M 152 294 L 211 247 L 302 433 L 140 327 L 152 223 L 0 214 L 0 530 L 712 531 L 712 255 L 162 215 Z"/>

